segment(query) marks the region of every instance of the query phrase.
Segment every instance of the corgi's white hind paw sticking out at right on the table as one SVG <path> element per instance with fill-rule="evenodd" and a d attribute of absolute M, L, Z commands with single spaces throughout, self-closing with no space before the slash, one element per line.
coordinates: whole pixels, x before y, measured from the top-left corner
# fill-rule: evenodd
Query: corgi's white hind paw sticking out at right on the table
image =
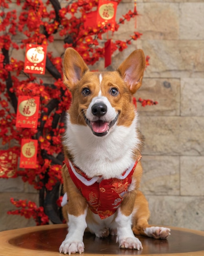
<path fill-rule="evenodd" d="M 167 227 L 147 227 L 144 231 L 147 236 L 155 239 L 167 239 L 171 235 Z"/>

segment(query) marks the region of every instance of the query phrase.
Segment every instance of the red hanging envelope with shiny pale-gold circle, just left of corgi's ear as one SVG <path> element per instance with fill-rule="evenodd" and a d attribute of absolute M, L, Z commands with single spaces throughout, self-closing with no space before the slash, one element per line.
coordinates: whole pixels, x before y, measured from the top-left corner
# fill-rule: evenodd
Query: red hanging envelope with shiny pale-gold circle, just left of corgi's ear
<path fill-rule="evenodd" d="M 24 72 L 45 74 L 47 45 L 26 44 Z"/>

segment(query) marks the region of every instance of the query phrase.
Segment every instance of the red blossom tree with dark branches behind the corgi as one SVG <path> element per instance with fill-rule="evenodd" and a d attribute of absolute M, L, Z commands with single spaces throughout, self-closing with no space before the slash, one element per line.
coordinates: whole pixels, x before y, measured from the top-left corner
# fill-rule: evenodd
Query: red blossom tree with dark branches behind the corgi
<path fill-rule="evenodd" d="M 119 4 L 121 0 L 116 2 Z M 11 199 L 19 209 L 9 213 L 26 218 L 31 218 L 32 213 L 38 224 L 48 222 L 46 213 L 53 223 L 60 223 L 61 213 L 55 204 L 62 183 L 60 167 L 64 160 L 60 139 L 64 133 L 65 112 L 71 103 L 71 94 L 62 81 L 63 56 L 47 53 L 46 70 L 54 80 L 52 84 L 48 84 L 39 76 L 24 73 L 24 61 L 11 57 L 12 50 L 24 49 L 27 43 L 50 45 L 55 40 L 54 34 L 58 33 L 63 39 L 62 48 L 74 47 L 88 65 L 93 65 L 104 58 L 102 36 L 110 29 L 110 24 L 85 29 L 86 13 L 90 13 L 98 4 L 94 0 L 67 1 L 67 6 L 63 8 L 58 0 L 48 0 L 46 3 L 42 0 L 16 0 L 21 8 L 18 17 L 16 10 L 11 10 L 10 4 L 10 0 L 0 1 L 0 136 L 2 144 L 9 144 L 14 140 L 20 145 L 23 138 L 38 140 L 36 168 L 26 168 L 23 171 L 19 169 L 15 177 L 21 176 L 24 182 L 29 182 L 39 190 L 39 207 L 33 202 Z M 116 31 L 121 24 L 136 15 L 138 13 L 135 11 L 128 11 L 123 15 L 116 23 Z M 15 40 L 17 31 L 23 35 L 18 43 Z M 134 32 L 126 40 L 113 40 L 112 53 L 116 50 L 123 51 L 132 40 L 137 40 L 141 35 Z M 146 59 L 146 65 L 149 65 L 149 59 Z M 37 129 L 15 127 L 17 99 L 20 95 L 40 97 Z M 149 105 L 150 101 L 139 102 L 143 106 Z"/>

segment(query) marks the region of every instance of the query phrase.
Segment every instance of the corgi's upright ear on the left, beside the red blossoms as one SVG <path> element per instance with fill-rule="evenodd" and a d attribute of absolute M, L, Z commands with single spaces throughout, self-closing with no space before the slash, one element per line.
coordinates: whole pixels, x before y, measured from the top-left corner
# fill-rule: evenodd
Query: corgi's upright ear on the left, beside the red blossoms
<path fill-rule="evenodd" d="M 72 91 L 74 85 L 89 68 L 83 58 L 73 48 L 66 49 L 63 61 L 64 84 Z"/>

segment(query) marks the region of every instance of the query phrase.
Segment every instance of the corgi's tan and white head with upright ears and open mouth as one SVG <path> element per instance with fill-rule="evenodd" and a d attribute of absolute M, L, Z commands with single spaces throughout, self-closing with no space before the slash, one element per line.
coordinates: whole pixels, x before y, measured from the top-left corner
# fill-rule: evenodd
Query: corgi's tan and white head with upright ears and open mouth
<path fill-rule="evenodd" d="M 142 50 L 132 52 L 114 72 L 90 72 L 81 56 L 68 48 L 63 67 L 64 83 L 72 93 L 72 124 L 89 126 L 99 137 L 107 135 L 116 124 L 132 124 L 132 95 L 140 88 L 145 69 Z"/>

